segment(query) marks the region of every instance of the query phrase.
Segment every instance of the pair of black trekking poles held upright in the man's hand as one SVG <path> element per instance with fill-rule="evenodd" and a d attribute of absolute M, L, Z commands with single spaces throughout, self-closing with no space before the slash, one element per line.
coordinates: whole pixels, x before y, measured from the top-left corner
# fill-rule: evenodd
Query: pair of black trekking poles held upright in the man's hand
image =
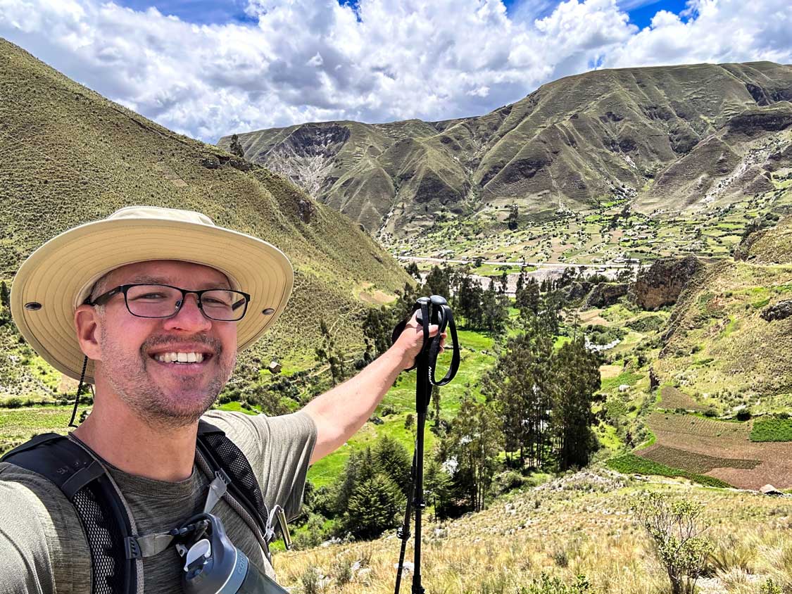
<path fill-rule="evenodd" d="M 445 386 L 447 383 L 454 379 L 457 370 L 459 369 L 459 341 L 456 337 L 456 325 L 454 323 L 454 314 L 451 312 L 451 307 L 444 297 L 440 295 L 432 295 L 432 297 L 421 297 L 415 303 L 413 312 L 420 310 L 417 316 L 417 322 L 421 324 L 424 333 L 424 341 L 421 346 L 421 351 L 416 357 L 415 364 L 406 371 L 417 369 L 417 376 L 415 380 L 415 407 L 417 413 L 416 424 L 416 440 L 415 440 L 415 453 L 413 454 L 413 476 L 410 481 L 409 497 L 407 497 L 407 509 L 405 513 L 405 527 L 409 526 L 410 508 L 415 508 L 415 547 L 413 552 L 413 594 L 424 594 L 424 588 L 421 585 L 421 511 L 425 507 L 424 501 L 424 432 L 426 426 L 426 411 L 429 406 L 429 399 L 432 396 L 432 386 Z M 394 328 L 393 341 L 395 342 L 398 336 L 404 331 L 408 320 L 401 322 Z M 438 331 L 435 337 L 429 337 L 429 325 L 435 324 L 438 326 Z M 435 370 L 437 366 L 437 356 L 440 355 L 440 341 L 441 335 L 445 329 L 451 330 L 451 341 L 453 345 L 453 356 L 451 356 L 451 367 L 443 379 L 439 381 L 435 379 Z M 410 500 L 412 497 L 412 501 Z M 406 540 L 409 539 L 407 530 L 402 527 L 402 554 L 399 558 L 399 565 L 396 576 L 396 591 L 398 594 L 399 587 L 402 582 L 402 569 L 404 565 L 404 550 L 406 549 Z"/>

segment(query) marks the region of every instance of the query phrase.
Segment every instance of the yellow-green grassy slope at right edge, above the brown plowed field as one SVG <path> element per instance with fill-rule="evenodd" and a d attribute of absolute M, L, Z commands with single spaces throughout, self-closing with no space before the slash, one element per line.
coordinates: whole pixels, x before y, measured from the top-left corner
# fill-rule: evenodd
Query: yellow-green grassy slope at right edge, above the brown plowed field
<path fill-rule="evenodd" d="M 792 217 L 782 219 L 746 261 L 714 265 L 680 296 L 655 366 L 661 379 L 722 412 L 789 412 L 792 318 L 766 322 L 760 313 L 792 299 L 790 231 Z"/>

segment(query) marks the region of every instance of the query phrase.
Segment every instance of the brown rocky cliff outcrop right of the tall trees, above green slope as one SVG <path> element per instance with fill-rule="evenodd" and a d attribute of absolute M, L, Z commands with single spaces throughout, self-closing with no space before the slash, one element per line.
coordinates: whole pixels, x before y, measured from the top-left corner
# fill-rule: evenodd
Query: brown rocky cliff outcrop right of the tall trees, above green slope
<path fill-rule="evenodd" d="M 703 268 L 695 256 L 657 260 L 633 284 L 636 303 L 645 310 L 673 305 L 688 281 Z"/>

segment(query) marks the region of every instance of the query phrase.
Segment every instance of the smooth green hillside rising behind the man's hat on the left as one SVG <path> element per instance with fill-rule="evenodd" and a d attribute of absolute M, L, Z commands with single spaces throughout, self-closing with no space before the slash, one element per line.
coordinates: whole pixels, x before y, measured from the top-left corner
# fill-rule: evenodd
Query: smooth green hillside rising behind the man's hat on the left
<path fill-rule="evenodd" d="M 0 40 L 0 279 L 46 239 L 130 204 L 202 211 L 264 238 L 295 268 L 275 328 L 241 364 L 313 358 L 324 318 L 337 343 L 359 341 L 365 302 L 408 276 L 369 235 L 284 178 L 162 128 Z M 79 265 L 75 262 L 74 265 Z M 345 331 L 341 331 L 341 329 Z M 0 328 L 0 394 L 48 394 L 59 376 Z"/>

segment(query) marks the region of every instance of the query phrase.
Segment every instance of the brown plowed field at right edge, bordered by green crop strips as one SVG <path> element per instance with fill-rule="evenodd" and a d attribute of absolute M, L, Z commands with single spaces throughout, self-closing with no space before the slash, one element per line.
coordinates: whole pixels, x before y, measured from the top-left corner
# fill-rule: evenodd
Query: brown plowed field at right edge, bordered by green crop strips
<path fill-rule="evenodd" d="M 651 413 L 655 444 L 635 453 L 667 466 L 719 478 L 741 489 L 792 487 L 792 443 L 756 443 L 752 421 L 715 421 L 692 414 Z"/>

